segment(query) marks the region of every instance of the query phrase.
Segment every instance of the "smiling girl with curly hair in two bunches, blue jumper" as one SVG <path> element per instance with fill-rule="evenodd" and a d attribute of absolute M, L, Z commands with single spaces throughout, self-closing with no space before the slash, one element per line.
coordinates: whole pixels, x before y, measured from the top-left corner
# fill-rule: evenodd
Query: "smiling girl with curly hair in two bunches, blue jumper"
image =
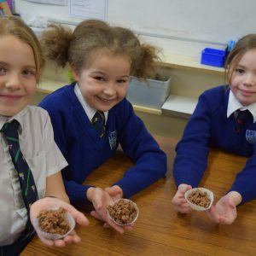
<path fill-rule="evenodd" d="M 125 99 L 130 74 L 145 77 L 154 66 L 154 48 L 140 44 L 130 30 L 100 20 L 84 20 L 74 32 L 52 26 L 42 44 L 49 59 L 61 67 L 69 62 L 75 79 L 40 103 L 49 112 L 55 142 L 68 162 L 62 172 L 67 195 L 72 203 L 92 202 L 91 215 L 123 233 L 108 218 L 106 207 L 166 173 L 166 154 Z M 119 144 L 135 165 L 110 188 L 83 185 Z"/>

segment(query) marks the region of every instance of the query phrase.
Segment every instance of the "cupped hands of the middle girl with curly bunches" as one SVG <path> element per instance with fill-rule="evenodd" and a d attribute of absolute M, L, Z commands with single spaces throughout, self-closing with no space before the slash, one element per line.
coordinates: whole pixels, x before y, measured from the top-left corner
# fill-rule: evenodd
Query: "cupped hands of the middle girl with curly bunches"
<path fill-rule="evenodd" d="M 117 186 L 118 187 L 118 186 Z M 119 195 L 115 193 L 115 189 L 111 189 L 114 196 Z M 90 212 L 90 215 L 94 218 L 102 220 L 105 224 L 104 227 L 112 227 L 114 230 L 123 234 L 125 230 L 132 230 L 132 225 L 119 226 L 118 224 L 113 223 L 113 221 L 108 218 L 108 212 L 106 207 L 113 204 L 113 197 L 104 191 L 101 188 L 93 188 L 87 190 L 87 198 L 92 202 L 95 211 Z"/>

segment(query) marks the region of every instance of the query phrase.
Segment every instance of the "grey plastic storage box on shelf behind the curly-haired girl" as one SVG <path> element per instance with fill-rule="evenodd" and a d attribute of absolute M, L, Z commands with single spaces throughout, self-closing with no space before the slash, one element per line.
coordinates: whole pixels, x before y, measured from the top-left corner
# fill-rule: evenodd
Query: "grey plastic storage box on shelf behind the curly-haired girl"
<path fill-rule="evenodd" d="M 127 91 L 127 99 L 132 103 L 148 108 L 161 108 L 170 94 L 171 77 L 164 81 L 137 79 L 132 77 Z"/>

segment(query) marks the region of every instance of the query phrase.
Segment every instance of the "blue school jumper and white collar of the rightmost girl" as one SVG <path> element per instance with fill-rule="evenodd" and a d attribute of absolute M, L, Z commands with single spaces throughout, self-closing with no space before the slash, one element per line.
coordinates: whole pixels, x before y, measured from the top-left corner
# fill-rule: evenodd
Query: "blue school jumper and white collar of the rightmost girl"
<path fill-rule="evenodd" d="M 236 110 L 248 109 L 251 120 L 237 130 Z M 177 186 L 197 187 L 207 169 L 209 147 L 249 157 L 230 191 L 242 196 L 242 203 L 256 197 L 256 103 L 243 107 L 227 85 L 205 91 L 200 97 L 183 137 L 177 143 L 173 174 Z"/>

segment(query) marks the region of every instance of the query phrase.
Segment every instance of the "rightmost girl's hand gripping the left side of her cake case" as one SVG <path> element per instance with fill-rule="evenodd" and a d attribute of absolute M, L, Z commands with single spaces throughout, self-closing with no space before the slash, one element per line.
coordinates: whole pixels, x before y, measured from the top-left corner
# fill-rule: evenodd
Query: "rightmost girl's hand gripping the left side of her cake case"
<path fill-rule="evenodd" d="M 177 212 L 181 212 L 181 213 L 192 212 L 192 208 L 189 207 L 189 204 L 184 197 L 185 192 L 189 189 L 192 189 L 192 187 L 188 184 L 180 184 L 178 186 L 177 192 L 172 198 L 172 205 Z"/>

